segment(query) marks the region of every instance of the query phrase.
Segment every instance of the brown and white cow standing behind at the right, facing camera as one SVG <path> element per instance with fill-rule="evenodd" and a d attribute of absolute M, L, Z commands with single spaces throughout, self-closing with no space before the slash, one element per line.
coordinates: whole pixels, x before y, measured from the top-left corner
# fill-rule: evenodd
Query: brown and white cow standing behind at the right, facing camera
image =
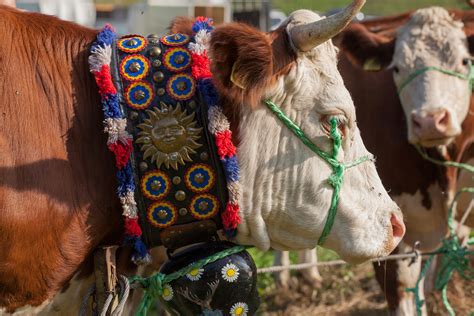
<path fill-rule="evenodd" d="M 405 83 L 424 67 L 468 75 L 473 31 L 474 11 L 433 7 L 353 24 L 337 39 L 340 71 L 356 105 L 364 141 L 405 216 L 401 252 L 409 251 L 415 241 L 425 251 L 439 245 L 447 233 L 448 205 L 461 185 L 458 170 L 423 160 L 411 144 L 428 148 L 429 155 L 441 160 L 474 158 L 474 101 L 468 81 L 427 71 Z M 472 186 L 471 175 L 461 178 Z M 465 196 L 459 209 L 470 200 Z M 410 266 L 409 261 L 391 261 L 375 267 L 390 311 L 413 315 L 413 296 L 405 288 L 415 285 L 420 262 Z"/>

